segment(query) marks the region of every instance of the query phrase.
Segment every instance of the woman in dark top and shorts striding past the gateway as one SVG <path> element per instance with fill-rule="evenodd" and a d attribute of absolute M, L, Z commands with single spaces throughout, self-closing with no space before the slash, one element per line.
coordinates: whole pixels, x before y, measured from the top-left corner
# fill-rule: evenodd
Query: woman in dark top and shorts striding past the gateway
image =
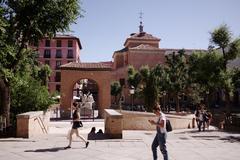
<path fill-rule="evenodd" d="M 74 112 L 73 112 L 73 120 L 72 120 L 72 129 L 70 131 L 70 135 L 69 135 L 69 144 L 67 147 L 65 147 L 65 149 L 71 148 L 71 144 L 72 144 L 72 136 L 75 133 L 77 135 L 77 137 L 79 137 L 80 139 L 82 139 L 85 142 L 85 146 L 86 148 L 89 145 L 89 141 L 87 141 L 83 136 L 81 136 L 78 132 L 78 128 L 82 127 L 82 122 L 80 121 L 80 112 L 79 112 L 79 108 L 76 102 L 73 103 L 73 107 L 74 107 Z"/>

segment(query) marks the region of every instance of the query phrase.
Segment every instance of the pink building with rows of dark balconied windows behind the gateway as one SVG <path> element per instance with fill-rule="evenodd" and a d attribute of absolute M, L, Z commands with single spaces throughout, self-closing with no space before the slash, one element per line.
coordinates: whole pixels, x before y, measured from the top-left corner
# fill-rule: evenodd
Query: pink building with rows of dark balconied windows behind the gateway
<path fill-rule="evenodd" d="M 60 66 L 70 62 L 80 62 L 82 46 L 79 38 L 71 35 L 56 35 L 52 39 L 42 39 L 35 48 L 39 52 L 39 62 L 49 65 L 52 70 L 48 82 L 49 92 L 60 92 Z"/>

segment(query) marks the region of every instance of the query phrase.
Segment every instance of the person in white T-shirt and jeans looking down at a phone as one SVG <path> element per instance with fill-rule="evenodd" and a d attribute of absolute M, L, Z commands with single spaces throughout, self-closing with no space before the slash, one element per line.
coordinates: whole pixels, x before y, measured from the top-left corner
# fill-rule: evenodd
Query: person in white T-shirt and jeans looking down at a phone
<path fill-rule="evenodd" d="M 167 130 L 166 130 L 166 116 L 163 112 L 161 112 L 161 108 L 159 104 L 156 104 L 153 108 L 154 114 L 158 116 L 158 120 L 148 120 L 152 125 L 156 125 L 156 136 L 152 142 L 152 152 L 153 159 L 157 160 L 157 147 L 160 147 L 160 150 L 163 155 L 164 160 L 168 160 L 168 152 L 166 147 L 166 139 L 167 139 Z"/>

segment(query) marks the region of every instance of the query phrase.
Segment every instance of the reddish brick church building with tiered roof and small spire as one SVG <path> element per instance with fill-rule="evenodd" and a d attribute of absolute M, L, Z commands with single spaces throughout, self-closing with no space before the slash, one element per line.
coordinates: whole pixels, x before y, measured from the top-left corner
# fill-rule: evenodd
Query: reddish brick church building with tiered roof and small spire
<path fill-rule="evenodd" d="M 154 67 L 165 64 L 165 56 L 177 53 L 181 49 L 166 49 L 160 47 L 161 39 L 143 31 L 142 23 L 138 33 L 132 33 L 124 42 L 124 48 L 113 53 L 113 80 L 123 85 L 124 103 L 131 103 L 130 86 L 127 84 L 128 66 L 140 69 L 144 65 Z M 186 55 L 197 49 L 184 49 Z M 203 50 L 201 50 L 203 51 Z M 137 103 L 137 101 L 135 101 Z M 139 101 L 141 103 L 141 101 Z"/>

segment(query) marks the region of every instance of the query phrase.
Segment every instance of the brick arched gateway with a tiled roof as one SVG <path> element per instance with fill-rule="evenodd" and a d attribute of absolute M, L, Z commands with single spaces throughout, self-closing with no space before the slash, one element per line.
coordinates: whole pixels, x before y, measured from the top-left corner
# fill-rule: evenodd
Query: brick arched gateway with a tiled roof
<path fill-rule="evenodd" d="M 98 110 L 103 111 L 111 105 L 111 66 L 104 63 L 75 63 L 61 66 L 61 117 L 69 118 L 71 113 L 72 89 L 79 79 L 92 79 L 98 86 Z"/>

